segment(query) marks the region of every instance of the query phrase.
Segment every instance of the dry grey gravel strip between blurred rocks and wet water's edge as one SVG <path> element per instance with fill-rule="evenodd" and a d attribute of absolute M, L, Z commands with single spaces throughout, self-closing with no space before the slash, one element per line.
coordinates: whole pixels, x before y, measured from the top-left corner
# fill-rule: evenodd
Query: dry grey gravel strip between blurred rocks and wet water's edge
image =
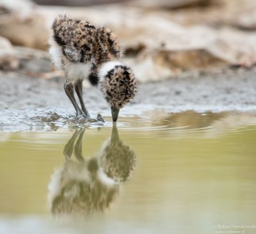
<path fill-rule="evenodd" d="M 53 107 L 72 109 L 63 91 L 63 81 L 0 74 L 0 110 Z M 106 111 L 108 105 L 97 88 L 84 89 L 90 111 Z M 227 74 L 187 76 L 138 86 L 138 94 L 124 108 L 138 111 L 164 109 L 169 112 L 250 111 L 256 109 L 255 70 L 236 70 Z M 137 112 L 136 112 L 137 111 Z"/>

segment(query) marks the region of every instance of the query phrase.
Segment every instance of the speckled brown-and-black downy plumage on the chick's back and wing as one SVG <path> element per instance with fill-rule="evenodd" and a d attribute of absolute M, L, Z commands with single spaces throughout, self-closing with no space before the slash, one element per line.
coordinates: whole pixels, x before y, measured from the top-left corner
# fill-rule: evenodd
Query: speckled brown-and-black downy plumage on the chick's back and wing
<path fill-rule="evenodd" d="M 56 18 L 52 24 L 53 39 L 61 47 L 62 63 L 90 63 L 90 75 L 95 75 L 95 85 L 99 81 L 100 66 L 121 56 L 116 36 L 108 27 L 95 28 L 89 22 L 69 19 L 66 15 Z"/>

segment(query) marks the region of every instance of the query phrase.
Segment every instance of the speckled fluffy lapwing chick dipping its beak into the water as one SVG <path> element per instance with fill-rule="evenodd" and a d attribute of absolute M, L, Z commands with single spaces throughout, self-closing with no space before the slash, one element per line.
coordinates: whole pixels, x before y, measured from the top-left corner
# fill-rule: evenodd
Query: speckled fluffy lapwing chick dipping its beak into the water
<path fill-rule="evenodd" d="M 49 52 L 56 68 L 63 71 L 64 90 L 77 117 L 90 117 L 83 102 L 83 80 L 87 79 L 102 91 L 115 122 L 120 109 L 137 90 L 131 68 L 120 62 L 122 50 L 116 36 L 108 27 L 95 27 L 86 21 L 69 19 L 67 15 L 54 20 L 52 31 Z"/>

